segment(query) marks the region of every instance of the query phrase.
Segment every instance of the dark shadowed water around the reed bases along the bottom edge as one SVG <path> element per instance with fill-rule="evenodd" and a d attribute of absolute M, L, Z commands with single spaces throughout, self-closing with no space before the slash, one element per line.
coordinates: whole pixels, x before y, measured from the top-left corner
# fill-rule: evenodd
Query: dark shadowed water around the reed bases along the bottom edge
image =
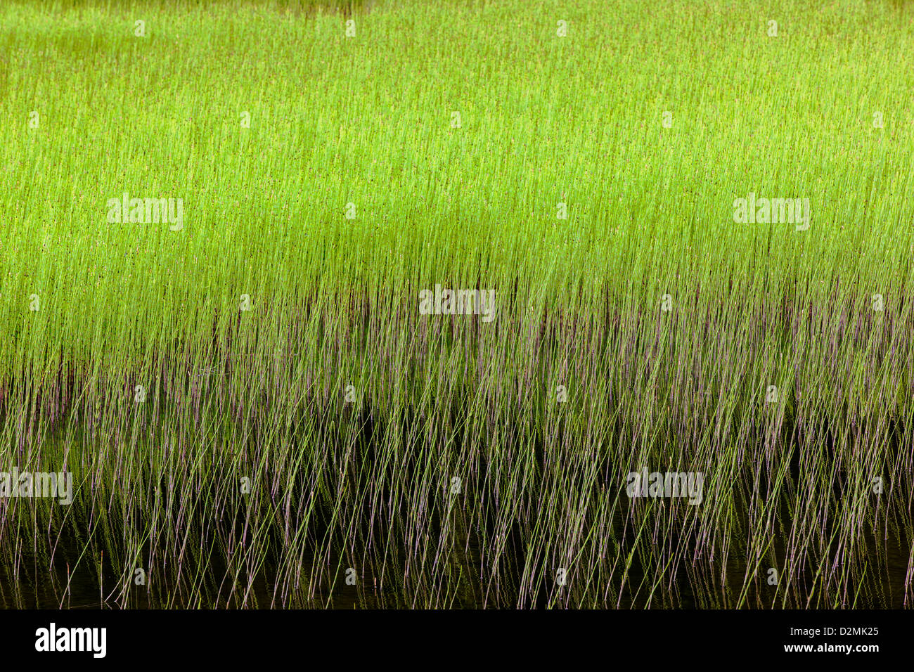
<path fill-rule="evenodd" d="M 29 539 L 31 541 L 31 539 Z M 869 536 L 866 539 L 869 555 L 864 579 L 854 583 L 852 590 L 841 602 L 820 603 L 813 599 L 812 608 L 903 608 L 905 606 L 905 577 L 908 569 L 908 550 L 903 541 L 882 539 L 877 550 L 877 540 Z M 783 544 L 780 539 L 773 540 L 775 557 L 783 558 Z M 118 577 L 107 560 L 101 564 L 91 557 L 103 557 L 97 549 L 80 552 L 84 545 L 76 539 L 58 539 L 53 559 L 48 554 L 38 556 L 33 549 L 20 549 L 21 560 L 16 565 L 5 564 L 0 567 L 0 608 L 43 608 L 43 609 L 146 609 L 154 608 L 282 608 L 303 607 L 319 609 L 377 609 L 385 607 L 409 608 L 426 606 L 420 595 L 410 595 L 404 590 L 403 571 L 397 562 L 388 564 L 387 578 L 370 564 L 354 567 L 355 584 L 346 582 L 348 565 L 342 556 L 331 558 L 313 558 L 310 564 L 301 567 L 302 582 L 307 586 L 314 577 L 314 591 L 310 594 L 299 589 L 294 597 L 275 582 L 277 574 L 270 560 L 263 563 L 252 579 L 239 576 L 233 580 L 218 563 L 210 562 L 207 568 L 203 589 L 191 594 L 177 582 L 163 581 L 155 575 L 146 577 L 145 585 L 131 586 L 127 597 L 121 595 Z M 505 578 L 501 581 L 480 581 L 479 549 L 473 539 L 464 548 L 454 549 L 461 569 L 452 574 L 450 581 L 440 581 L 444 586 L 443 604 L 437 606 L 451 608 L 514 607 L 518 602 L 517 583 L 520 570 L 505 565 Z M 810 563 L 811 565 L 813 563 Z M 475 566 L 475 570 L 474 570 Z M 765 564 L 762 564 L 764 570 Z M 637 559 L 628 572 L 626 586 L 620 593 L 618 602 L 590 604 L 596 607 L 676 607 L 719 608 L 736 606 L 739 592 L 743 585 L 746 567 L 741 553 L 734 550 L 729 557 L 724 571 L 724 579 L 719 576 L 702 576 L 681 561 L 675 571 L 667 571 L 649 600 L 648 594 L 654 586 L 654 577 L 645 575 L 638 566 Z M 352 572 L 350 572 L 352 574 Z M 780 608 L 782 592 L 767 585 L 764 571 L 747 592 L 743 606 L 749 608 Z M 781 578 L 781 581 L 784 579 Z M 783 604 L 789 608 L 804 607 L 804 591 L 815 585 L 813 571 L 803 572 L 795 582 L 796 597 L 791 603 Z M 170 583 L 170 584 L 169 584 Z M 396 586 L 391 589 L 391 586 Z M 562 590 L 552 585 L 547 592 L 539 592 L 533 603 L 521 606 L 560 607 L 567 604 L 559 594 Z M 293 592 L 294 589 L 293 589 Z M 728 595 L 726 602 L 722 596 Z M 856 604 L 855 604 L 856 603 Z M 570 605 L 574 605 L 572 602 Z"/>

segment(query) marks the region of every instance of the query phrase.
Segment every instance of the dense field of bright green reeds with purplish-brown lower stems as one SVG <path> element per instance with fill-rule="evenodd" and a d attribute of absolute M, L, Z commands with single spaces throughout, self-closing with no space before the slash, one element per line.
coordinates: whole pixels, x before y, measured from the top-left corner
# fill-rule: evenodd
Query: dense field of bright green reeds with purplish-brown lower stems
<path fill-rule="evenodd" d="M 876 0 L 3 3 L 0 470 L 73 501 L 0 497 L 0 605 L 909 606 L 912 38 Z"/>

